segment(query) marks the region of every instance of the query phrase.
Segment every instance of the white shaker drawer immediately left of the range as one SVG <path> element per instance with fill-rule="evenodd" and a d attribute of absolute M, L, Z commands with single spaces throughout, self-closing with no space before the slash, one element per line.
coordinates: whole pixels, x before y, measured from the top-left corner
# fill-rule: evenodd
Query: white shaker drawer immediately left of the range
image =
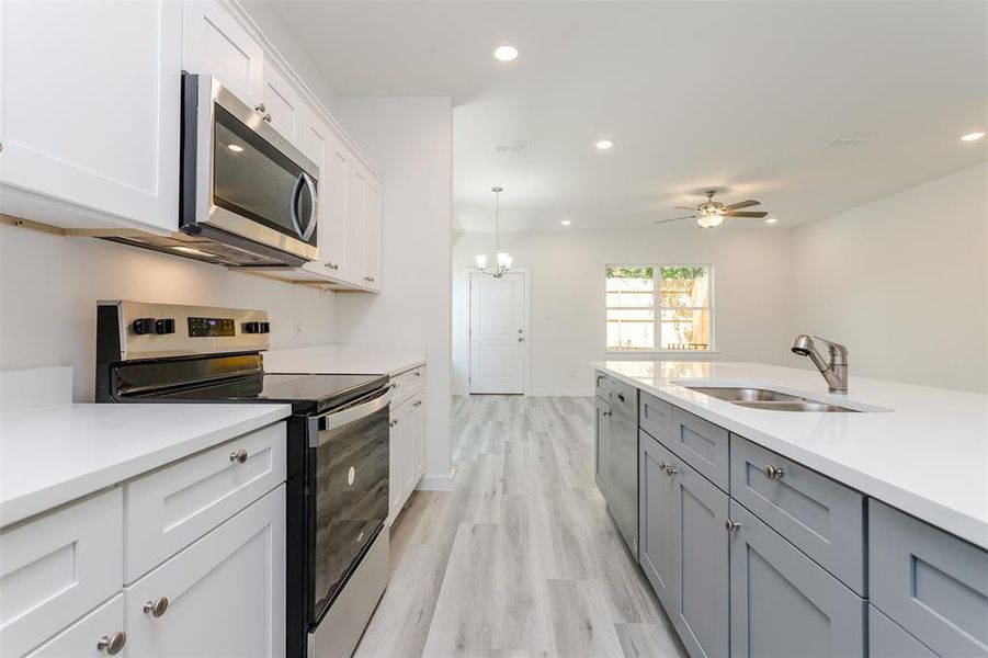
<path fill-rule="evenodd" d="M 124 581 L 133 582 L 285 481 L 285 423 L 127 483 Z M 234 455 L 246 451 L 241 464 Z"/>

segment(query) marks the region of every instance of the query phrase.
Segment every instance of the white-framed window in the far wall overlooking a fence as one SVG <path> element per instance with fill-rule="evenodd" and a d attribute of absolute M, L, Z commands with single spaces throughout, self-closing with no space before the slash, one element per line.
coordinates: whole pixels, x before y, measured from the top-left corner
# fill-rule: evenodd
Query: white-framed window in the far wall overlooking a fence
<path fill-rule="evenodd" d="M 607 265 L 607 350 L 712 350 L 709 265 Z"/>

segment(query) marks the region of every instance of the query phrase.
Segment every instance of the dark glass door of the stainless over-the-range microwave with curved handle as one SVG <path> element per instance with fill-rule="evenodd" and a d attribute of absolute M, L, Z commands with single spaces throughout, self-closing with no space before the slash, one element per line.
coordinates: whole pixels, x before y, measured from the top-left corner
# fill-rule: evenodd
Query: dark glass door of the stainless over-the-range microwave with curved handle
<path fill-rule="evenodd" d="M 213 116 L 213 204 L 315 246 L 317 181 L 218 103 Z"/>

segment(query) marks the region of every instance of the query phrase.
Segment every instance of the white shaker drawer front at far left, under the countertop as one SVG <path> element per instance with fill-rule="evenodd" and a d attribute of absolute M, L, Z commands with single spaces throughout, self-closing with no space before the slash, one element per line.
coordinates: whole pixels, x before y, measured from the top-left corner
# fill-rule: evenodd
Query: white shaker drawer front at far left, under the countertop
<path fill-rule="evenodd" d="M 120 590 L 121 490 L 3 530 L 0 556 L 0 654 L 23 656 Z"/>

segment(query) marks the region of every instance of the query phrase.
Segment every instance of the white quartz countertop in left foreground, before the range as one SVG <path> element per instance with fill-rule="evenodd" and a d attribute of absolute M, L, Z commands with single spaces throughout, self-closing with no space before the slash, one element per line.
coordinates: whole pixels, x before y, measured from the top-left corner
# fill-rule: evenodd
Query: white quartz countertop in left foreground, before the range
<path fill-rule="evenodd" d="M 0 416 L 0 527 L 287 417 L 288 405 L 71 405 Z"/>

